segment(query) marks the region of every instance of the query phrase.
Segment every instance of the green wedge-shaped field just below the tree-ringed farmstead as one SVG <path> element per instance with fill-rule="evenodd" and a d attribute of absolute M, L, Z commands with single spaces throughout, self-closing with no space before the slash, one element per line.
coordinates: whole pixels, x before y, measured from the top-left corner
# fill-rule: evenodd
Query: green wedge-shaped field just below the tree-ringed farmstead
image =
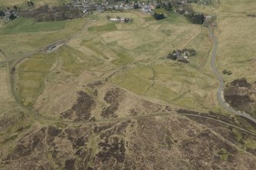
<path fill-rule="evenodd" d="M 170 104 L 186 104 L 186 107 L 193 109 L 204 110 L 206 106 L 215 109 L 212 94 L 206 92 L 213 88 L 209 77 L 202 76 L 193 67 L 168 63 L 171 62 L 135 67 L 115 75 L 112 82 L 139 95 Z"/>

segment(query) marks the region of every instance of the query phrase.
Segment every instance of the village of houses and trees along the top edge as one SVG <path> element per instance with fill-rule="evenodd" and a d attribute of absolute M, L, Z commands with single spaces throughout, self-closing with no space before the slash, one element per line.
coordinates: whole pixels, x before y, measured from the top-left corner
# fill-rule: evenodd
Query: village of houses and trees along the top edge
<path fill-rule="evenodd" d="M 178 1 L 134 1 L 129 2 L 126 0 L 125 2 L 96 2 L 94 0 L 73 0 L 70 3 L 63 4 L 67 9 L 70 11 L 80 11 L 82 14 L 91 14 L 92 12 L 104 12 L 104 11 L 129 11 L 133 9 L 140 9 L 141 12 L 147 14 L 154 14 L 157 13 L 157 8 L 164 8 L 166 11 L 174 11 L 179 14 L 183 14 L 187 18 L 194 18 L 194 12 L 192 8 L 190 8 L 190 3 L 199 3 L 199 5 L 209 5 L 211 0 L 178 0 Z M 33 11 L 34 9 L 33 1 L 27 2 L 27 11 Z M 27 12 L 28 13 L 28 12 Z M 11 21 L 18 17 L 23 17 L 22 9 L 14 6 L 8 7 L 6 9 L 0 8 L 0 19 L 4 18 L 6 21 Z M 82 16 L 82 15 L 81 15 Z M 163 14 L 164 16 L 164 14 Z M 190 17 L 192 16 L 192 17 Z M 66 19 L 66 18 L 63 18 Z M 69 19 L 69 18 L 67 18 Z M 157 18 L 155 18 L 157 19 Z M 160 18 L 160 19 L 163 19 Z M 206 19 L 206 20 L 205 20 Z M 158 19 L 157 19 L 158 20 Z M 199 16 L 199 21 L 192 21 L 194 24 L 203 24 L 206 21 L 206 25 L 213 20 L 211 14 L 201 14 Z M 127 22 L 125 18 L 112 18 L 111 21 L 120 21 L 120 22 Z"/>

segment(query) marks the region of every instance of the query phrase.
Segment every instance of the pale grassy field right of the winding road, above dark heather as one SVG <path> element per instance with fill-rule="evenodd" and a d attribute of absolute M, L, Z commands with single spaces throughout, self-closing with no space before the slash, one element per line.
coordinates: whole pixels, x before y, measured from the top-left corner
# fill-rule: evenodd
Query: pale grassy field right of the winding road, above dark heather
<path fill-rule="evenodd" d="M 251 82 L 255 81 L 253 72 L 256 72 L 256 20 L 247 14 L 254 14 L 256 2 L 243 2 L 241 5 L 239 2 L 226 0 L 218 8 L 218 29 L 215 30 L 219 37 L 217 66 L 220 72 L 223 69 L 233 72 L 232 75 L 224 75 L 226 82 L 241 77 Z"/>

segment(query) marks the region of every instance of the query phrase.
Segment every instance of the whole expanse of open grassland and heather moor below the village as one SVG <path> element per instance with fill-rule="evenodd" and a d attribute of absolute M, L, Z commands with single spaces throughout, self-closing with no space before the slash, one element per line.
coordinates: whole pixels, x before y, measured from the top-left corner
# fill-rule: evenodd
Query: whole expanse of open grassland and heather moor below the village
<path fill-rule="evenodd" d="M 219 72 L 232 70 L 222 75 L 225 84 L 251 82 L 252 92 L 231 84 L 250 98 L 255 19 L 248 14 L 255 6 L 249 0 L 193 5 L 218 16 L 215 64 Z M 0 168 L 254 169 L 256 125 L 219 104 L 208 28 L 166 15 L 154 21 L 139 10 L 113 11 L 2 24 Z M 50 44 L 58 45 L 49 50 Z M 196 50 L 190 63 L 167 59 L 183 48 Z M 246 104 L 232 107 L 254 116 Z"/>

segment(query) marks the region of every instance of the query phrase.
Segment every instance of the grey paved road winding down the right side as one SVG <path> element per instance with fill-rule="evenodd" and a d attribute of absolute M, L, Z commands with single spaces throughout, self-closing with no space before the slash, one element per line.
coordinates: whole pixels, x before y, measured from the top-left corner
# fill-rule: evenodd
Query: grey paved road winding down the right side
<path fill-rule="evenodd" d="M 236 111 L 235 109 L 233 109 L 232 107 L 229 106 L 229 104 L 227 104 L 225 102 L 224 99 L 224 95 L 223 95 L 223 91 L 224 91 L 224 87 L 225 87 L 225 81 L 222 78 L 222 75 L 219 73 L 218 69 L 215 66 L 215 60 L 216 60 L 216 53 L 218 50 L 218 40 L 215 37 L 215 35 L 212 32 L 212 28 L 209 26 L 208 27 L 209 30 L 209 34 L 212 37 L 212 41 L 213 41 L 213 47 L 212 47 L 212 59 L 211 59 L 211 67 L 212 67 L 212 71 L 215 73 L 215 75 L 218 77 L 219 79 L 219 88 L 217 91 L 217 98 L 219 103 L 222 105 L 222 107 L 225 108 L 225 110 L 232 112 L 232 114 L 241 116 L 241 117 L 245 117 L 251 121 L 253 121 L 254 123 L 256 123 L 256 119 L 254 117 L 251 117 L 250 114 L 246 114 L 245 112 L 241 112 L 241 111 Z"/>

